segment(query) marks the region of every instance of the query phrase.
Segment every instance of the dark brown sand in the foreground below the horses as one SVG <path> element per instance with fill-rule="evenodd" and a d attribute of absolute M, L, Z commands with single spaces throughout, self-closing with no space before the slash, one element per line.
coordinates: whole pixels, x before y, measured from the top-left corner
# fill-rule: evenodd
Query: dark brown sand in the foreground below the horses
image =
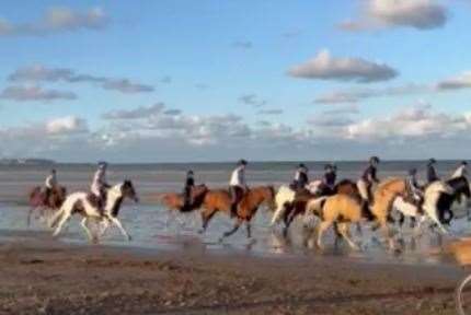
<path fill-rule="evenodd" d="M 456 265 L 0 238 L 0 314 L 456 314 Z"/>

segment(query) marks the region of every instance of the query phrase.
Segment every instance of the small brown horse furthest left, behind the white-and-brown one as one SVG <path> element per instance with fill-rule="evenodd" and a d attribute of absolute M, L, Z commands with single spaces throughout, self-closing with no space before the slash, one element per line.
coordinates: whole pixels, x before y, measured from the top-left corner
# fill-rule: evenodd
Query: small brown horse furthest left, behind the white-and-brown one
<path fill-rule="evenodd" d="M 30 211 L 27 212 L 27 226 L 31 225 L 33 212 L 39 211 L 41 215 L 44 215 L 47 210 L 50 210 L 50 212 L 58 210 L 62 206 L 64 200 L 66 200 L 66 196 L 67 190 L 62 186 L 51 189 L 48 198 L 42 187 L 34 187 L 28 194 Z"/>

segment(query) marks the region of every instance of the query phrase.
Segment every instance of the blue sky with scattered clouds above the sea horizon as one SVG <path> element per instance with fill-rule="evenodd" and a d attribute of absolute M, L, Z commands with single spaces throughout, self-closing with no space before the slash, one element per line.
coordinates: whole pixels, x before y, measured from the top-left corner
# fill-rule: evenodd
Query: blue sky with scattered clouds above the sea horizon
<path fill-rule="evenodd" d="M 2 1 L 0 158 L 470 159 L 471 1 Z"/>

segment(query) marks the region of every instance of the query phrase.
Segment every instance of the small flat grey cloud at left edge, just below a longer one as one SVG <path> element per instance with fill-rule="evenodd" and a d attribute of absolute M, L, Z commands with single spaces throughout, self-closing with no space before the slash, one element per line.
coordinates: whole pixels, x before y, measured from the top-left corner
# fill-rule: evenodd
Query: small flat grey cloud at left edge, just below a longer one
<path fill-rule="evenodd" d="M 0 98 L 15 102 L 48 102 L 57 100 L 76 100 L 72 92 L 44 90 L 41 86 L 8 86 L 0 93 Z"/>

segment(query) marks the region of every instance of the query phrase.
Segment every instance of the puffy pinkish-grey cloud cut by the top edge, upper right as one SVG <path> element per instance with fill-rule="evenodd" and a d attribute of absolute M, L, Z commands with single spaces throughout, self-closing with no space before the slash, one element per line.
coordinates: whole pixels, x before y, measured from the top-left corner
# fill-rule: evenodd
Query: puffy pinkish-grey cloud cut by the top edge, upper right
<path fill-rule="evenodd" d="M 356 21 L 340 24 L 344 31 L 358 32 L 387 27 L 430 30 L 448 20 L 447 9 L 435 0 L 367 0 Z"/>

